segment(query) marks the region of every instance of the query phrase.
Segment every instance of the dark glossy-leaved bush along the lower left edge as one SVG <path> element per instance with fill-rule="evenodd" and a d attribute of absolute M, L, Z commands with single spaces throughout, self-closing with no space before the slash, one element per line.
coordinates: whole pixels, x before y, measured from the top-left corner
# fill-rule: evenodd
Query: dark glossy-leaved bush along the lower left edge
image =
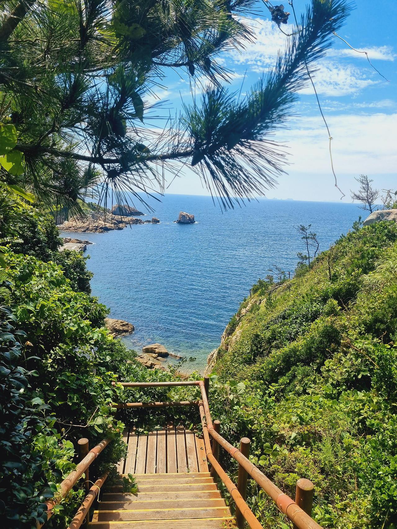
<path fill-rule="evenodd" d="M 44 501 L 55 490 L 43 471 L 45 454 L 35 444 L 39 432 L 49 431 L 44 406 L 31 395 L 29 380 L 36 373 L 19 366 L 26 334 L 15 331 L 15 324 L 10 309 L 0 306 L 0 508 L 5 524 L 19 528 L 47 519 Z"/>

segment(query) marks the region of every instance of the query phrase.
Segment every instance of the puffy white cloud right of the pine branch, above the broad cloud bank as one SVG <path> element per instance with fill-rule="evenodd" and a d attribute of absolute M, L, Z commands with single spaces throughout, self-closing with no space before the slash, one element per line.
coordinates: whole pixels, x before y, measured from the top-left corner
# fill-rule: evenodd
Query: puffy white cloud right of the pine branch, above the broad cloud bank
<path fill-rule="evenodd" d="M 312 77 L 317 93 L 330 97 L 356 94 L 360 90 L 379 82 L 369 79 L 360 68 L 325 60 L 319 63 L 317 71 Z M 313 94 L 313 88 L 308 84 L 300 90 L 300 93 Z"/>

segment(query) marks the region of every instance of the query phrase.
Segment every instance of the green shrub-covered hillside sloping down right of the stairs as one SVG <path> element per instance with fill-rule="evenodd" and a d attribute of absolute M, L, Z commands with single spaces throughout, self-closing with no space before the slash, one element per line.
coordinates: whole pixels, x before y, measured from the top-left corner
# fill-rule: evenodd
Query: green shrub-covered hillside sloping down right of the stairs
<path fill-rule="evenodd" d="M 259 281 L 218 351 L 213 403 L 225 433 L 248 435 L 255 461 L 293 494 L 316 486 L 324 527 L 390 529 L 397 484 L 397 226 L 348 233 L 309 269 Z M 230 384 L 230 383 L 229 383 Z M 252 488 L 264 527 L 288 527 Z M 283 525 L 284 524 L 284 525 Z"/>

